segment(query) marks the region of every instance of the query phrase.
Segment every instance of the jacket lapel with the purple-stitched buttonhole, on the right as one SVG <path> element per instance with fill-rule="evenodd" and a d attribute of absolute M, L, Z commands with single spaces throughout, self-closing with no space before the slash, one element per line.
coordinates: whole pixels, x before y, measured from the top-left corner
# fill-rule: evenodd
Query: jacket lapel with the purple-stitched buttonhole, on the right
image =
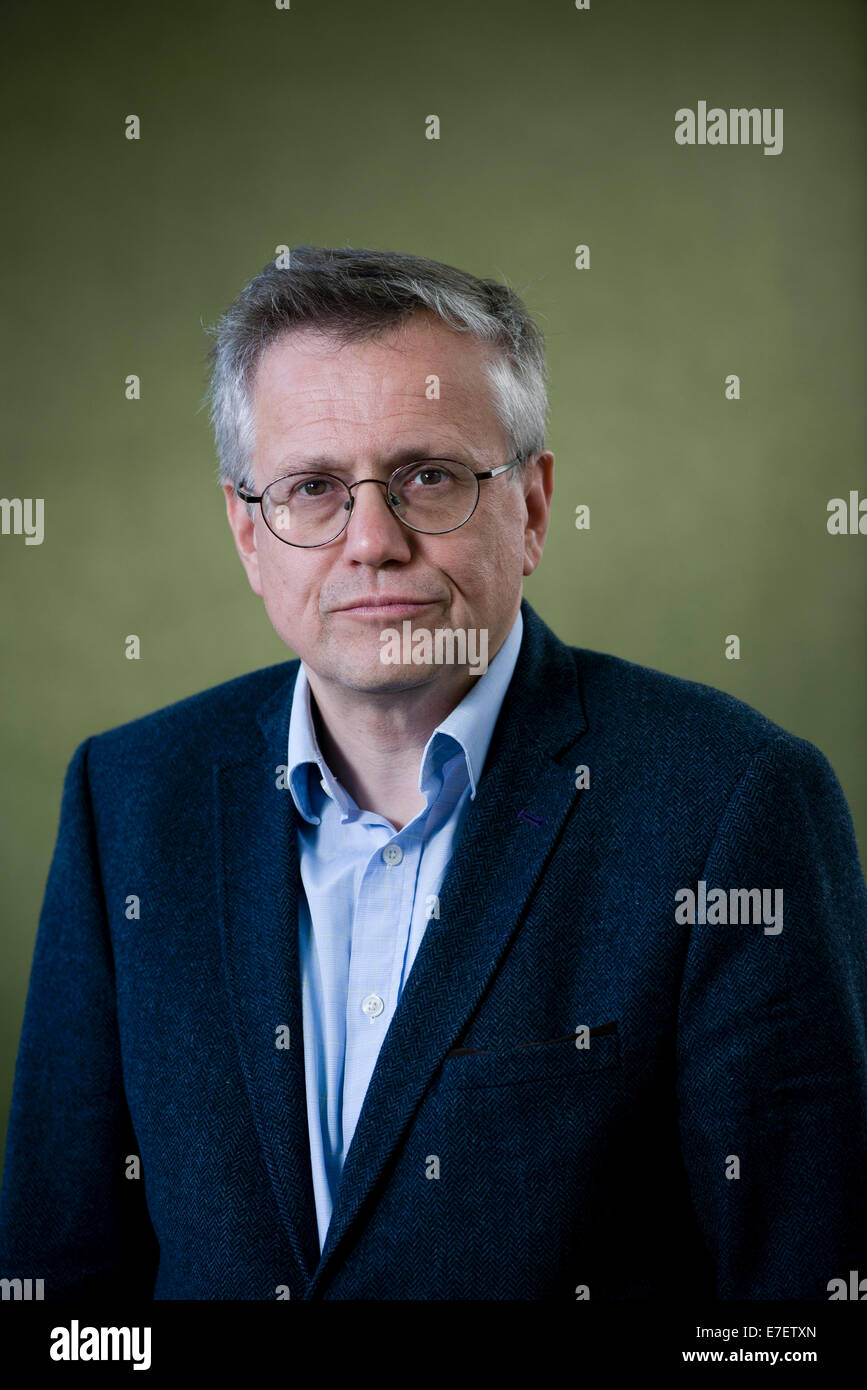
<path fill-rule="evenodd" d="M 567 755 L 586 728 L 575 657 L 525 599 L 521 612 L 518 662 L 440 888 L 440 917 L 428 923 L 382 1042 L 310 1297 L 468 1026 L 575 798 Z M 520 819 L 521 810 L 542 823 Z"/>

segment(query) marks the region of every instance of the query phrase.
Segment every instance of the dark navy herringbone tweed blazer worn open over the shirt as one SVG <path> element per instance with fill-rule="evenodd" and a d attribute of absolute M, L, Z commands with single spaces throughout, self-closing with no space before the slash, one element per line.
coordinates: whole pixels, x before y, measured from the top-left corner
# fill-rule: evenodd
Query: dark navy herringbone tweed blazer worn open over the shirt
<path fill-rule="evenodd" d="M 275 785 L 299 663 L 76 749 L 0 1276 L 46 1298 L 574 1301 L 827 1300 L 867 1275 L 867 891 L 828 762 L 522 614 L 321 1255 Z M 782 930 L 678 922 L 702 883 L 782 888 Z"/>

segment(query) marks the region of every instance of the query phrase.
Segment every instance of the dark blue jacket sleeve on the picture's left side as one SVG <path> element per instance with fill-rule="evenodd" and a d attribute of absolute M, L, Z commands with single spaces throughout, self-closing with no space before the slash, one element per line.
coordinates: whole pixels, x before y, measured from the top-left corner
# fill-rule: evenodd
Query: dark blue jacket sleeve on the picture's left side
<path fill-rule="evenodd" d="M 0 1194 L 0 1277 L 44 1298 L 153 1297 L 157 1241 L 126 1108 L 83 742 L 69 763 L 24 1015 Z M 13 1294 L 14 1297 L 14 1294 Z M 36 1297 L 36 1294 L 33 1294 Z"/>

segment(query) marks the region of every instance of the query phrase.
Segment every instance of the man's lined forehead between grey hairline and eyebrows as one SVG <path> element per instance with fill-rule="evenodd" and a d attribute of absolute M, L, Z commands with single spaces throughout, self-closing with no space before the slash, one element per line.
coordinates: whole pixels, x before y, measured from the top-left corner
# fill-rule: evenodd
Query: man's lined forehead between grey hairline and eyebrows
<path fill-rule="evenodd" d="M 502 439 L 485 361 L 490 348 L 427 313 L 377 338 L 340 343 L 296 329 L 271 343 L 253 386 L 257 446 L 276 436 L 442 427 Z"/>

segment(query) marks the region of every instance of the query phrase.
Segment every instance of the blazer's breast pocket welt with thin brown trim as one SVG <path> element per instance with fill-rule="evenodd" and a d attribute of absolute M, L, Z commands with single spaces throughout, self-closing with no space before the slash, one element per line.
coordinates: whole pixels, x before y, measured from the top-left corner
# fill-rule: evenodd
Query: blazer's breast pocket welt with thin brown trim
<path fill-rule="evenodd" d="M 577 1047 L 575 1033 L 528 1041 L 515 1047 L 453 1048 L 439 1073 L 438 1088 L 520 1086 L 549 1076 L 591 1077 L 620 1066 L 620 1033 L 614 1020 L 589 1030 L 586 1047 Z"/>

